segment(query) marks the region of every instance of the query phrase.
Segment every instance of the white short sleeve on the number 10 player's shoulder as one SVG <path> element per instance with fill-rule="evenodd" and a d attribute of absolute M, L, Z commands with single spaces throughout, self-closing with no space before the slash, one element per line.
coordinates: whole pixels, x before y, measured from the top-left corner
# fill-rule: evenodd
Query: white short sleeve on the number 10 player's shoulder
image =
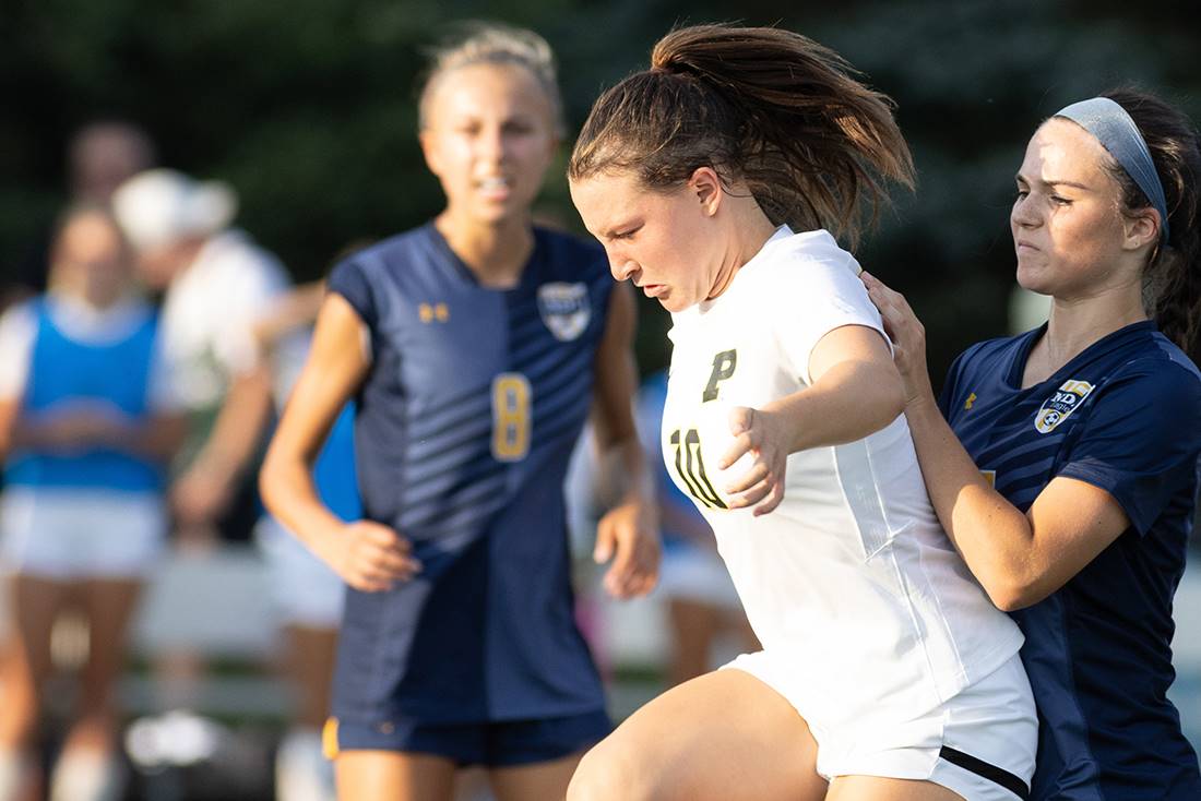
<path fill-rule="evenodd" d="M 888 341 L 880 313 L 859 280 L 858 263 L 846 251 L 836 253 L 842 258 L 802 257 L 778 264 L 773 281 L 778 292 L 769 300 L 779 347 L 807 384 L 813 383 L 813 348 L 833 329 L 864 325 Z"/>

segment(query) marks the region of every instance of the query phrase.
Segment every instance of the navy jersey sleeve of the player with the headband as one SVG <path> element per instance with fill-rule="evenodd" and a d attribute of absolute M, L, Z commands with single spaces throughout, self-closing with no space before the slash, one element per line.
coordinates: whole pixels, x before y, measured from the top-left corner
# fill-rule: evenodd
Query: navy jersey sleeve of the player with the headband
<path fill-rule="evenodd" d="M 1059 476 L 1098 486 L 1145 534 L 1201 452 L 1201 377 L 1152 361 L 1098 390 Z"/>

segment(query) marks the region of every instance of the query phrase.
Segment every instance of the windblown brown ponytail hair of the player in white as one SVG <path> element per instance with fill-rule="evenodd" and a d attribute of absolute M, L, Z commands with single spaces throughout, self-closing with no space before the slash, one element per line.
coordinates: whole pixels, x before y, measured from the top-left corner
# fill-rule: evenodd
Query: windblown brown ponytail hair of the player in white
<path fill-rule="evenodd" d="M 854 243 L 884 179 L 912 187 L 892 102 L 833 50 L 775 28 L 697 25 L 655 46 L 651 68 L 605 91 L 575 143 L 568 177 L 634 172 L 667 190 L 701 166 L 746 181 L 775 223 L 829 228 Z"/>

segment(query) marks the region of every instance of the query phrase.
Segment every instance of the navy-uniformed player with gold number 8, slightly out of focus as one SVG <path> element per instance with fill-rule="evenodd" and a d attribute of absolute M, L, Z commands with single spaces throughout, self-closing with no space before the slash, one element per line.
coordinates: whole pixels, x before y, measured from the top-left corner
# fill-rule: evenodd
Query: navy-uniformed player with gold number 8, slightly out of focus
<path fill-rule="evenodd" d="M 563 474 L 592 410 L 628 484 L 594 558 L 619 597 L 658 543 L 631 411 L 634 303 L 603 253 L 531 223 L 562 133 L 537 35 L 437 53 L 420 143 L 446 209 L 336 267 L 262 472 L 270 510 L 346 581 L 333 717 L 339 796 L 438 801 L 482 765 L 497 797 L 562 797 L 609 730 L 573 617 Z M 355 399 L 364 519 L 313 460 Z"/>

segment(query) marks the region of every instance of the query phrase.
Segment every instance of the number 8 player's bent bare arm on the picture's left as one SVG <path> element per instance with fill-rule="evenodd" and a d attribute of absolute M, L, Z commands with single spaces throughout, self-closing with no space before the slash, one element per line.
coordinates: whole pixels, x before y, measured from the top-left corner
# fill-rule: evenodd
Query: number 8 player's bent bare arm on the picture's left
<path fill-rule="evenodd" d="M 368 373 L 364 331 L 341 295 L 322 304 L 309 359 L 267 450 L 259 490 L 271 514 L 351 586 L 380 591 L 419 569 L 407 540 L 377 522 L 342 522 L 322 503 L 312 479 L 329 430 Z"/>

